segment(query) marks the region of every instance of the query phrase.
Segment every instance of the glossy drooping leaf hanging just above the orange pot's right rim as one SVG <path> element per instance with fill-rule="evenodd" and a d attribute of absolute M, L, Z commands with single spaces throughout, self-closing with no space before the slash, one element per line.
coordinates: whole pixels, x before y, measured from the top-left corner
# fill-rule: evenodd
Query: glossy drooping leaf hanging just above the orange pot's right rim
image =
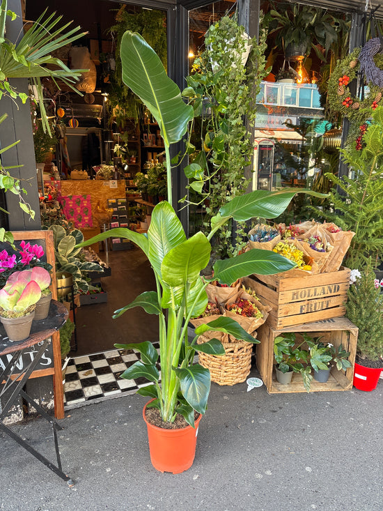
<path fill-rule="evenodd" d="M 180 379 L 180 389 L 190 406 L 205 413 L 210 392 L 210 371 L 199 364 L 185 369 L 173 368 Z"/>

